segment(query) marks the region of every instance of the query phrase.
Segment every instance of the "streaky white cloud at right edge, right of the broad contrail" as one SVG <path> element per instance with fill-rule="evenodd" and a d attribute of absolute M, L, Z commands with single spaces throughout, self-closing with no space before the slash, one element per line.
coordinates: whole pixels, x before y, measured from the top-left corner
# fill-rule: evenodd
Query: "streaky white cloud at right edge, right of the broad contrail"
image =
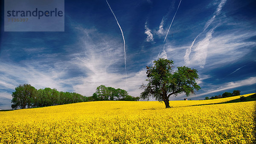
<path fill-rule="evenodd" d="M 251 35 L 253 33 L 234 32 L 212 37 L 207 49 L 207 66 L 212 68 L 224 66 L 243 58 L 252 51 L 253 46 L 256 46 L 256 42 L 244 42 L 244 39 Z"/>

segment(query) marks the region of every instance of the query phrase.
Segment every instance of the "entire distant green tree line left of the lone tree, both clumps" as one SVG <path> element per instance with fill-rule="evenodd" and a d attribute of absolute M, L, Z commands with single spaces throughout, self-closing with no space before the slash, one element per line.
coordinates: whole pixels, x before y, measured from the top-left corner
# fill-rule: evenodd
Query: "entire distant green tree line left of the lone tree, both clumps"
<path fill-rule="evenodd" d="M 138 101 L 124 89 L 98 86 L 92 96 L 86 97 L 76 92 L 59 92 L 49 87 L 35 89 L 30 84 L 20 84 L 12 92 L 12 109 L 32 107 L 47 107 L 61 104 L 72 104 L 85 101 Z"/>

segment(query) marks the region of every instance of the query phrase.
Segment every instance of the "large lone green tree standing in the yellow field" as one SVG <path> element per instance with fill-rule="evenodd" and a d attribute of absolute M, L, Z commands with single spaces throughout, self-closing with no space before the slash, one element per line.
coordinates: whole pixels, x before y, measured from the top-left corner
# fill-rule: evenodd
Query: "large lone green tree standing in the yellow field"
<path fill-rule="evenodd" d="M 147 85 L 142 84 L 141 89 L 144 92 L 140 94 L 140 98 L 155 98 L 157 101 L 163 101 L 166 108 L 169 108 L 169 97 L 185 92 L 186 96 L 190 93 L 195 94 L 195 90 L 201 89 L 195 80 L 199 79 L 196 69 L 186 66 L 177 67 L 177 71 L 173 72 L 174 66 L 172 60 L 160 58 L 154 61 L 153 66 L 146 66 Z"/>

